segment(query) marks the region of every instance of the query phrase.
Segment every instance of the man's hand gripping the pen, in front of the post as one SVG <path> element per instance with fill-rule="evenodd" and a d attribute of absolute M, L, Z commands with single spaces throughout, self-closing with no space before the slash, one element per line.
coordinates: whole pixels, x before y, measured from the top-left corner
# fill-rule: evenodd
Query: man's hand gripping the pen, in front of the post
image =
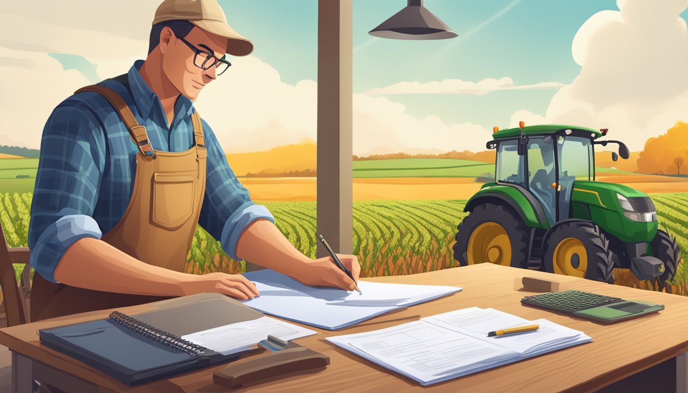
<path fill-rule="evenodd" d="M 341 263 L 351 272 L 354 280 L 358 282 L 358 275 L 361 273 L 361 264 L 358 263 L 356 255 L 337 254 Z M 336 286 L 345 290 L 354 290 L 356 284 L 340 270 L 332 257 L 322 257 L 312 259 L 305 263 L 302 270 L 293 276 L 301 284 L 310 286 Z"/>

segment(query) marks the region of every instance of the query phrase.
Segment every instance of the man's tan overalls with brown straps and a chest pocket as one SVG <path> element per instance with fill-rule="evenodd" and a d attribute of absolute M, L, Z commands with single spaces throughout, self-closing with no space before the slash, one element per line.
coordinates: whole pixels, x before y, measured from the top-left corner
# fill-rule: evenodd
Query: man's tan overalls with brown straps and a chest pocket
<path fill-rule="evenodd" d="M 178 153 L 155 151 L 145 127 L 138 125 L 131 109 L 114 90 L 91 85 L 78 89 L 75 94 L 79 92 L 97 92 L 105 96 L 127 125 L 139 149 L 127 210 L 122 220 L 101 240 L 147 264 L 182 272 L 206 189 L 206 147 L 200 116 L 196 111 L 191 115 L 194 147 Z M 87 273 L 89 262 L 81 263 Z M 36 273 L 31 290 L 31 321 L 162 299 L 169 297 L 55 284 Z"/>

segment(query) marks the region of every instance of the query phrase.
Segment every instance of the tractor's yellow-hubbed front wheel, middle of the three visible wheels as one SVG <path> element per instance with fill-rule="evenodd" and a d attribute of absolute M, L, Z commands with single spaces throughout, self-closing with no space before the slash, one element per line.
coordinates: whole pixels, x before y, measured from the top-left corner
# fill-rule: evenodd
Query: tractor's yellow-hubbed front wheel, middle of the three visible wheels
<path fill-rule="evenodd" d="M 545 270 L 614 284 L 609 240 L 592 222 L 564 222 L 546 239 Z"/>

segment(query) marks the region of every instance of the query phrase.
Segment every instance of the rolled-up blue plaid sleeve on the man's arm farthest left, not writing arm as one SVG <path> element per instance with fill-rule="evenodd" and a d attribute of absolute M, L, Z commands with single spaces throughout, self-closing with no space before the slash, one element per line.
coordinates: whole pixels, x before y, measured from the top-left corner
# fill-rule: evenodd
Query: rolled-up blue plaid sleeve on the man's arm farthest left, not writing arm
<path fill-rule="evenodd" d="M 48 118 L 31 204 L 29 264 L 50 282 L 69 246 L 103 233 L 92 217 L 103 173 L 105 136 L 83 104 L 65 101 Z"/>

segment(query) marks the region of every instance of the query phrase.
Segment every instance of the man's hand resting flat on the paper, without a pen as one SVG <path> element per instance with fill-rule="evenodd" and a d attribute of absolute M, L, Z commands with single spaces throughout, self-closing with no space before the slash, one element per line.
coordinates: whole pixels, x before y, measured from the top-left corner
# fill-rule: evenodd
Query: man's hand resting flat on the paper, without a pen
<path fill-rule="evenodd" d="M 180 282 L 179 286 L 182 289 L 182 295 L 216 292 L 229 295 L 238 300 L 253 299 L 253 297 L 259 295 L 256 287 L 246 277 L 226 273 L 196 275 L 184 282 Z"/>

